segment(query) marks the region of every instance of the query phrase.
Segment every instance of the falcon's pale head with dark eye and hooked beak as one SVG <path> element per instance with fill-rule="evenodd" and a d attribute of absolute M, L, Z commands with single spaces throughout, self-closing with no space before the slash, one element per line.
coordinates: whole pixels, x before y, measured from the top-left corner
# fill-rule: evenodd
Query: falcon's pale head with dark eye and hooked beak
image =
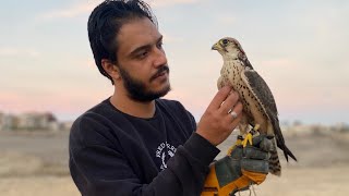
<path fill-rule="evenodd" d="M 217 50 L 224 58 L 229 59 L 244 59 L 245 53 L 241 48 L 240 42 L 231 37 L 221 38 L 213 47 L 213 50 Z"/>

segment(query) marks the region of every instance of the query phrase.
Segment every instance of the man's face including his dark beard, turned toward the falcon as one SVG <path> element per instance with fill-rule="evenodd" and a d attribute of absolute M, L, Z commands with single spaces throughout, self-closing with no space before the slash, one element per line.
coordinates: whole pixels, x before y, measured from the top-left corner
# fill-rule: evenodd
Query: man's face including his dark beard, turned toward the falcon
<path fill-rule="evenodd" d="M 122 25 L 117 37 L 118 68 L 129 97 L 152 101 L 170 90 L 163 36 L 148 19 Z"/>

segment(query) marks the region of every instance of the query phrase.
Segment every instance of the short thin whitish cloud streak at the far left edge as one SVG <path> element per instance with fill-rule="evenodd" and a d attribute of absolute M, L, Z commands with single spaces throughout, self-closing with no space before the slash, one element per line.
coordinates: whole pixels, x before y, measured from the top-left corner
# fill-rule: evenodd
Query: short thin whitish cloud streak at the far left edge
<path fill-rule="evenodd" d="M 2 47 L 0 48 L 0 57 L 29 57 L 39 58 L 41 53 L 32 48 L 13 48 Z"/>

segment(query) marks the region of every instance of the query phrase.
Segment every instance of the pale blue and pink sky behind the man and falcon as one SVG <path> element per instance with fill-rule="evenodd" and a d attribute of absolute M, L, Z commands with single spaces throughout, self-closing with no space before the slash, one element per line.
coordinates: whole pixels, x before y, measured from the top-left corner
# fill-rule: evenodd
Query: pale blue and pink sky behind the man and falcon
<path fill-rule="evenodd" d="M 87 19 L 100 0 L 3 0 L 0 111 L 72 121 L 113 93 L 99 74 Z M 349 1 L 146 0 L 164 35 L 176 99 L 198 121 L 237 38 L 272 89 L 281 122 L 349 123 Z"/>

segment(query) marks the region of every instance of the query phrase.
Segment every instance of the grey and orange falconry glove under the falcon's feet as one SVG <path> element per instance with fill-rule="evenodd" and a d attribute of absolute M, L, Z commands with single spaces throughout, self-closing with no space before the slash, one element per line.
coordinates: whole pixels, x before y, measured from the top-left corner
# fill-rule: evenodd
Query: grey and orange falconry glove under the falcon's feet
<path fill-rule="evenodd" d="M 253 145 L 237 146 L 231 154 L 210 166 L 201 196 L 227 196 L 265 181 L 269 154 L 260 144 L 270 142 L 265 135 L 253 138 Z"/>

